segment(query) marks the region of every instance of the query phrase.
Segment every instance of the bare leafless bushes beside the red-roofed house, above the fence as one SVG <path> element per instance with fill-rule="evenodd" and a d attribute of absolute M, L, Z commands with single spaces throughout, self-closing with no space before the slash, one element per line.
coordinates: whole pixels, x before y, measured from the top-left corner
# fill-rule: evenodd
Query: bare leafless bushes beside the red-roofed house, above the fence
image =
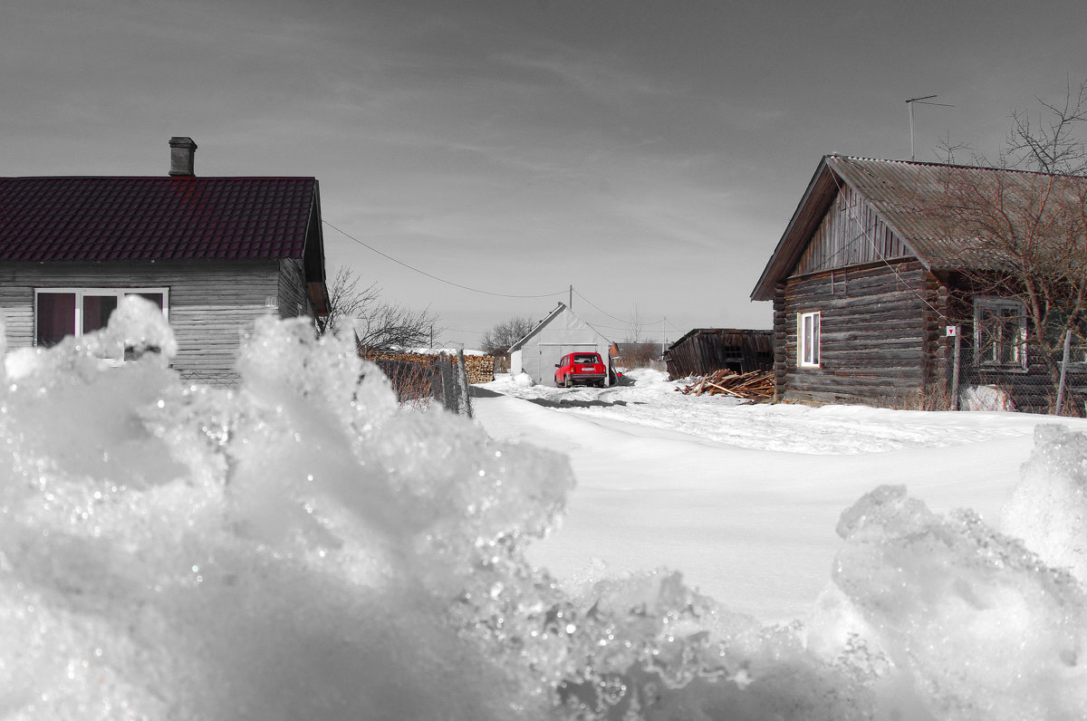
<path fill-rule="evenodd" d="M 382 300 L 382 289 L 376 284 L 361 287 L 354 271 L 341 266 L 328 289 L 328 315 L 317 320 L 317 332 L 353 332 L 363 348 L 411 348 L 427 346 L 434 334 L 438 315 L 424 308 L 414 311 L 404 306 Z"/>

